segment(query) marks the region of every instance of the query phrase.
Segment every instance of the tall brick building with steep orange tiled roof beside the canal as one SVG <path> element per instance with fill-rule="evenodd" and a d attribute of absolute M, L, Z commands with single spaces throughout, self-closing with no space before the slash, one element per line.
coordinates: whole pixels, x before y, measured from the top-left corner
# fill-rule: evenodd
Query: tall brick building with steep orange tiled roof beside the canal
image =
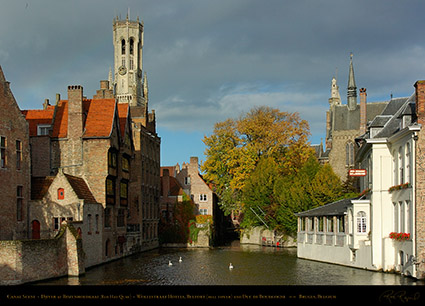
<path fill-rule="evenodd" d="M 128 104 L 118 104 L 108 81 L 101 81 L 93 99 L 83 96 L 82 86 L 68 86 L 67 100 L 58 97 L 55 106 L 47 102 L 43 110 L 23 113 L 30 126 L 33 177 L 60 170 L 84 179 L 104 207 L 103 260 L 127 253 L 137 244 L 134 237 L 127 240 L 127 221 L 138 221 L 127 218 L 137 212 L 130 205 L 134 145 Z"/>

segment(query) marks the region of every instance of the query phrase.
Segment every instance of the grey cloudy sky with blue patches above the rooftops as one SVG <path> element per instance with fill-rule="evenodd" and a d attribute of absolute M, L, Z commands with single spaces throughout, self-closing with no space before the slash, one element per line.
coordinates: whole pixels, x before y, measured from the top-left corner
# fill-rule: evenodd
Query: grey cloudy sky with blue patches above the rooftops
<path fill-rule="evenodd" d="M 215 122 L 254 106 L 299 112 L 325 135 L 330 84 L 343 103 L 350 52 L 368 101 L 425 79 L 423 0 L 0 0 L 0 65 L 21 109 L 92 97 L 113 67 L 112 20 L 139 16 L 161 164 L 203 155 Z M 1 111 L 1 110 L 0 110 Z"/>

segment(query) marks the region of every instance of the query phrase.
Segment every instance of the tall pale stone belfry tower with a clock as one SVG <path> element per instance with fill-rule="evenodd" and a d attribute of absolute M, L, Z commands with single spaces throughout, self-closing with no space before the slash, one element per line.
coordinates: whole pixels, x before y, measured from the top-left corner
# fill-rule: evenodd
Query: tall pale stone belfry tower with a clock
<path fill-rule="evenodd" d="M 118 102 L 146 107 L 146 74 L 142 79 L 143 22 L 139 22 L 139 18 L 131 21 L 128 15 L 125 20 L 114 18 L 113 44 L 114 79 L 110 84 Z M 111 75 L 109 78 L 111 79 Z"/>

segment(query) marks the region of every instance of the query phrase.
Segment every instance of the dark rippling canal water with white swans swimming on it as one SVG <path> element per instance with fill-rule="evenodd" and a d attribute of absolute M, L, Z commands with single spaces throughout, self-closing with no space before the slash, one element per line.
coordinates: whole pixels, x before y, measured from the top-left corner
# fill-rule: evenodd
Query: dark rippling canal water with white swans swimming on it
<path fill-rule="evenodd" d="M 233 269 L 229 269 L 230 263 Z M 393 273 L 300 259 L 296 248 L 240 245 L 234 241 L 216 248 L 160 248 L 88 269 L 80 277 L 34 285 L 410 286 L 424 282 Z"/>

